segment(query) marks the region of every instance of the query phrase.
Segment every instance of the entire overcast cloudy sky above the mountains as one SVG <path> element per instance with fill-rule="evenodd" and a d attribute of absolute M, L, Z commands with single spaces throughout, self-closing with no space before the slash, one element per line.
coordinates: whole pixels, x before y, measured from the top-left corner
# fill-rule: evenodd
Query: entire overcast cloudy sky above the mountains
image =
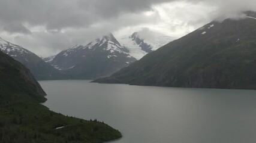
<path fill-rule="evenodd" d="M 0 0 L 0 37 L 47 57 L 109 32 L 146 28 L 180 38 L 247 10 L 255 0 Z"/>

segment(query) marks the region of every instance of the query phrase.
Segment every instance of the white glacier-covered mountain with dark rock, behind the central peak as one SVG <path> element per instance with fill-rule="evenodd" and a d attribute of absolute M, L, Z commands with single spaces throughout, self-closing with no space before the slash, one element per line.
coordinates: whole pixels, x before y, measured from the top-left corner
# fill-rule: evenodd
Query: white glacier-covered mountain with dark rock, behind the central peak
<path fill-rule="evenodd" d="M 132 57 L 140 60 L 147 53 L 173 41 L 173 38 L 149 29 L 143 29 L 132 33 L 132 35 L 121 36 L 118 41 L 129 50 L 129 54 Z"/>

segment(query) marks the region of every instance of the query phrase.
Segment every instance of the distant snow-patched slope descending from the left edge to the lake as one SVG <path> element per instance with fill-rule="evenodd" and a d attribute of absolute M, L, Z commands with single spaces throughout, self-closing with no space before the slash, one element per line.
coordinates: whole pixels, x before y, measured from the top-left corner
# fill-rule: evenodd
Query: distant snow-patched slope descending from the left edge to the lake
<path fill-rule="evenodd" d="M 2 38 L 0 38 L 0 50 L 22 63 L 24 66 L 28 67 L 28 69 L 31 70 L 32 74 L 38 80 L 70 78 L 68 74 L 56 70 L 49 63 L 44 62 L 40 57 L 31 51 L 22 48 L 22 46 L 5 41 Z"/>

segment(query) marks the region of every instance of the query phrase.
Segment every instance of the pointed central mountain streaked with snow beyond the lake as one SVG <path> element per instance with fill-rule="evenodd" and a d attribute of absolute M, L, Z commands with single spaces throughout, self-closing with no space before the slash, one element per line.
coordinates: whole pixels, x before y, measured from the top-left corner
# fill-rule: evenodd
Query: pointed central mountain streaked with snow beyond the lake
<path fill-rule="evenodd" d="M 95 79 L 110 76 L 122 67 L 128 66 L 135 58 L 128 54 L 110 33 L 95 39 L 87 45 L 76 45 L 60 52 L 50 63 L 65 70 L 76 79 Z"/>

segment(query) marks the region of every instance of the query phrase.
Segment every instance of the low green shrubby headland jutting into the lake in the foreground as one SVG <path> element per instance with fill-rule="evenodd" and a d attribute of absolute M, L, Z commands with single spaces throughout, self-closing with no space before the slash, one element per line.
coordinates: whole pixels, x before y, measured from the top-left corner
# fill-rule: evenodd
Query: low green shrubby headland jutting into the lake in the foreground
<path fill-rule="evenodd" d="M 54 113 L 26 94 L 1 94 L 1 143 L 103 142 L 117 138 L 121 133 L 104 123 Z"/>

